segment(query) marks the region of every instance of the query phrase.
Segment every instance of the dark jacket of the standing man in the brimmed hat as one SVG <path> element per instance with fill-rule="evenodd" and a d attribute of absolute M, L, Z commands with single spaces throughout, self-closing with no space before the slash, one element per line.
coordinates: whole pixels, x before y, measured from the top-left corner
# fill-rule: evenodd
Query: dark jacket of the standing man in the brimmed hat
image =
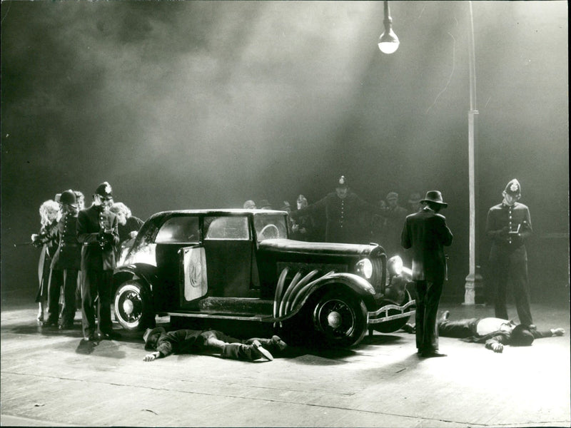
<path fill-rule="evenodd" d="M 413 280 L 445 280 L 444 247 L 452 243 L 452 238 L 444 215 L 428 207 L 407 216 L 400 242 L 403 248 L 413 249 Z"/>

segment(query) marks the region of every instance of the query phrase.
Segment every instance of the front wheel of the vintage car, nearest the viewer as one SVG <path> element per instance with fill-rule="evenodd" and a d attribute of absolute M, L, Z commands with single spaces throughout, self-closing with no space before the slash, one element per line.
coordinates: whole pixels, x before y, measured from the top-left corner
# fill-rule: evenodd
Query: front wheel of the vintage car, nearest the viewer
<path fill-rule="evenodd" d="M 330 290 L 315 304 L 313 325 L 327 345 L 351 347 L 367 332 L 367 308 L 358 296 Z"/>

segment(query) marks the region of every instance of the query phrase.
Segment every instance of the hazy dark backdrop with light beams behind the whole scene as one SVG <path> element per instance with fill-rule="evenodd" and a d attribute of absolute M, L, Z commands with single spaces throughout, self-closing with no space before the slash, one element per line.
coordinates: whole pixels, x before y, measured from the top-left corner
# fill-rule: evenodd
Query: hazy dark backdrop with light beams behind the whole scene
<path fill-rule="evenodd" d="M 36 287 L 39 205 L 108 180 L 146 218 L 442 190 L 468 274 L 468 2 L 3 1 L 1 288 Z M 535 300 L 568 296 L 567 2 L 475 1 L 478 219 L 511 178 Z M 478 233 L 480 264 L 487 243 Z M 30 300 L 33 292 L 30 292 Z"/>

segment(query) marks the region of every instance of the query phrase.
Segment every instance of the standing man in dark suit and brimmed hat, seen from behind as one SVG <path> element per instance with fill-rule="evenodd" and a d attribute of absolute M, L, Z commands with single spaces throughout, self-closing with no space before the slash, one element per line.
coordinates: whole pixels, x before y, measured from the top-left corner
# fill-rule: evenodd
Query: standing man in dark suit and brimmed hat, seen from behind
<path fill-rule="evenodd" d="M 446 218 L 438 212 L 448 206 L 438 190 L 429 190 L 420 201 L 423 209 L 405 220 L 401 244 L 413 250 L 416 283 L 416 347 L 422 357 L 445 357 L 438 351 L 436 316 L 446 277 L 444 246 L 452 243 Z"/>

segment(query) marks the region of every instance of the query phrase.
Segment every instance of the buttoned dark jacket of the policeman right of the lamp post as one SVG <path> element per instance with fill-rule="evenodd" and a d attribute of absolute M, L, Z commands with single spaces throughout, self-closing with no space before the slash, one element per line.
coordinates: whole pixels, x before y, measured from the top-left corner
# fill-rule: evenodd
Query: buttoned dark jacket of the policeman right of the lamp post
<path fill-rule="evenodd" d="M 505 255 L 512 259 L 527 260 L 524 241 L 531 234 L 530 210 L 527 205 L 518 202 L 512 206 L 499 203 L 488 210 L 486 235 L 492 240 L 490 260 Z"/>

